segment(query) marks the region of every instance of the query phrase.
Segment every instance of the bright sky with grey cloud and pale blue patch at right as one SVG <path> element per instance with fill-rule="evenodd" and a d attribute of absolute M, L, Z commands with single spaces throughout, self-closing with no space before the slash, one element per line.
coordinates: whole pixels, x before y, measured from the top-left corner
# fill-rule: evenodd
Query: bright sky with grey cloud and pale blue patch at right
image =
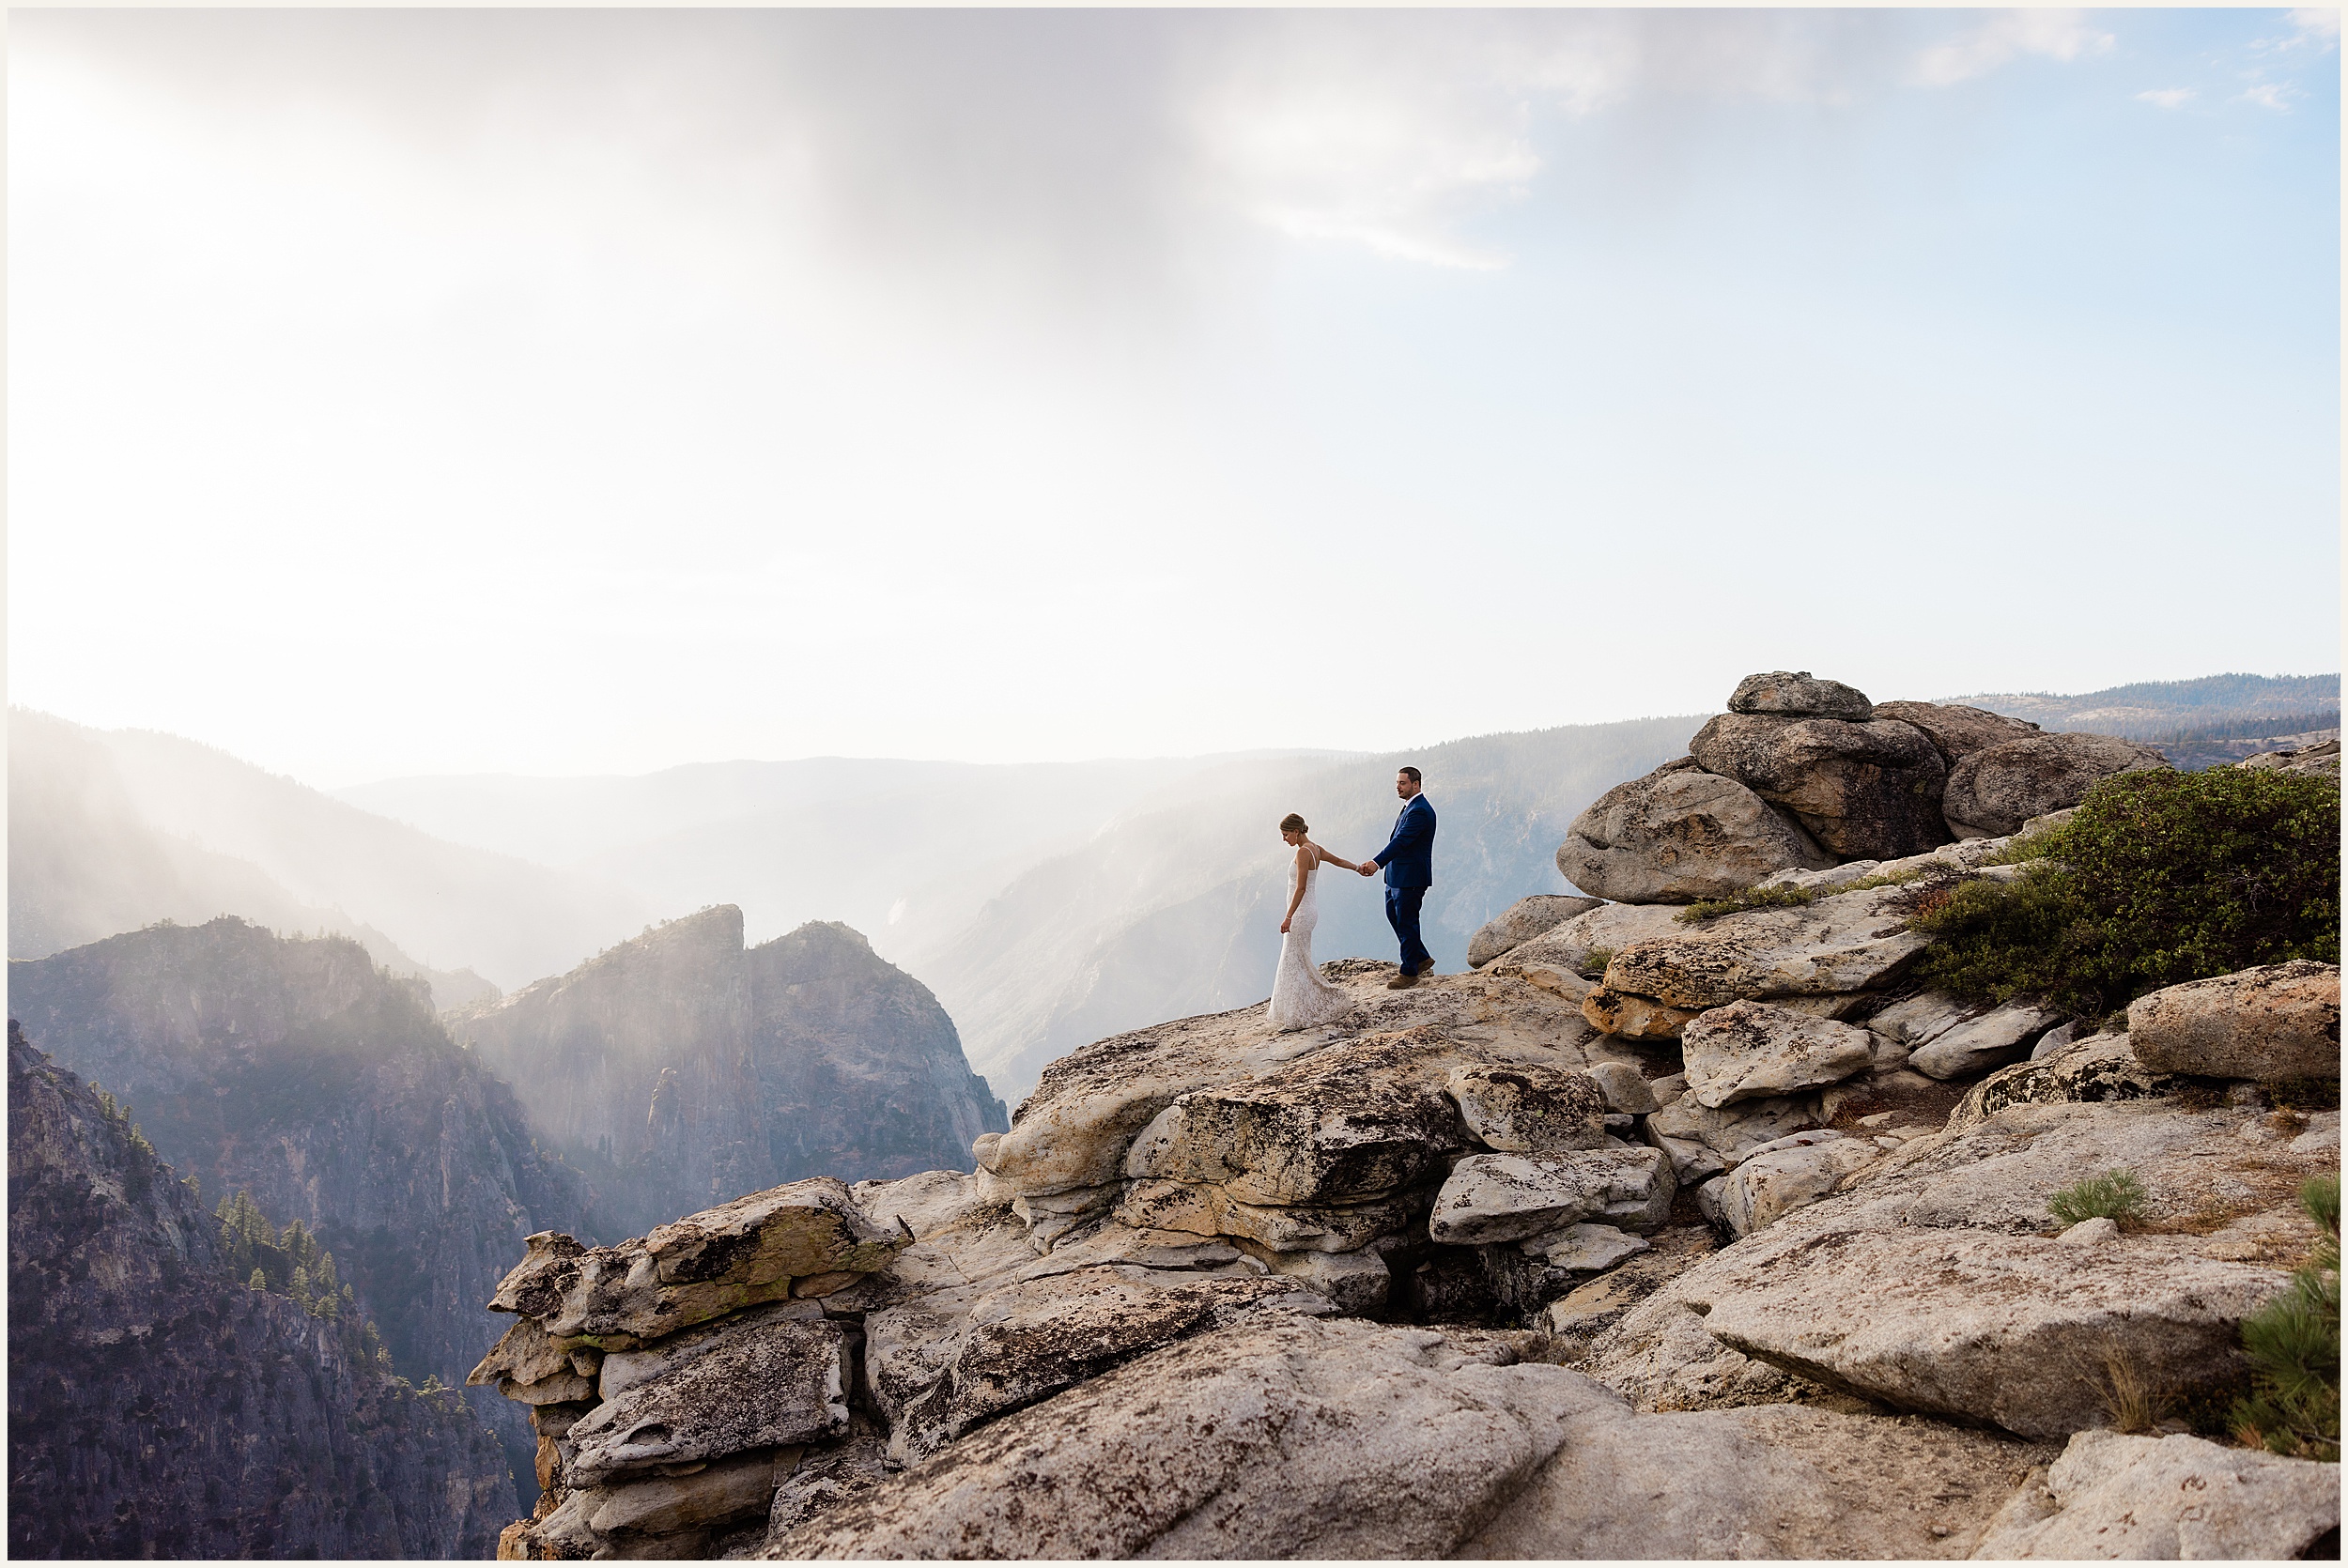
<path fill-rule="evenodd" d="M 331 789 L 2339 669 L 2339 12 L 7 45 L 80 723 Z"/>

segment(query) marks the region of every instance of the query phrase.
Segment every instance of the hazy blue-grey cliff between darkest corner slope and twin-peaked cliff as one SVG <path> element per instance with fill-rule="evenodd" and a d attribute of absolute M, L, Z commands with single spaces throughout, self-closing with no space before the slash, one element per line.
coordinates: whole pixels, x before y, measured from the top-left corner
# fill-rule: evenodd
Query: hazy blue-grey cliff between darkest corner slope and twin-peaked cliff
<path fill-rule="evenodd" d="M 498 1338 L 481 1303 L 521 1237 L 599 1230 L 578 1174 L 540 1155 L 423 986 L 352 941 L 232 918 L 127 932 L 12 962 L 9 1005 L 207 1195 L 244 1188 L 272 1221 L 301 1221 L 416 1380 L 460 1383 Z M 528 1474 L 528 1422 L 474 1404 Z"/>

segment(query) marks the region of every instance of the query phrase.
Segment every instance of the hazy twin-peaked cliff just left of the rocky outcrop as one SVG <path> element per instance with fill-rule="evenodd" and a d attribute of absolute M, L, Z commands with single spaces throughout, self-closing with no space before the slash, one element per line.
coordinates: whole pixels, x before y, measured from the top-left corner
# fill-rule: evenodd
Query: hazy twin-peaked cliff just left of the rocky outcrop
<path fill-rule="evenodd" d="M 960 1169 L 1007 1127 L 930 988 L 845 925 L 742 946 L 707 908 L 453 1019 L 613 1221 L 801 1176 Z"/>

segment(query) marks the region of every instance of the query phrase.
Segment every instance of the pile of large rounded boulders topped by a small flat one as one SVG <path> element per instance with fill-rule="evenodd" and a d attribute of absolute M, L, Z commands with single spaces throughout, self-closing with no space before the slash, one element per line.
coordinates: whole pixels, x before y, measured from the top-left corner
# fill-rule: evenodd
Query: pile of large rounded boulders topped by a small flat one
<path fill-rule="evenodd" d="M 1627 904 L 1723 897 L 1777 871 L 1904 859 L 2015 833 L 2113 772 L 2167 768 L 2111 735 L 1932 702 L 1869 702 L 1810 671 L 1745 676 L 1688 756 L 1573 819 L 1557 869 Z"/>

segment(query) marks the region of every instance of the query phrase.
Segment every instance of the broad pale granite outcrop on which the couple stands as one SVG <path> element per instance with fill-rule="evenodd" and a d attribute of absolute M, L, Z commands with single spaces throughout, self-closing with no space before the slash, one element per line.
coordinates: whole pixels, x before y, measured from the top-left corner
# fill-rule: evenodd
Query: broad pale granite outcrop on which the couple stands
<path fill-rule="evenodd" d="M 1831 789 L 1747 770 L 1813 843 L 1914 847 L 1916 779 L 2012 744 L 1810 676 L 1730 707 L 1914 737 Z M 2336 1549 L 2336 908 L 2301 901 L 2275 967 L 2177 958 L 2125 1016 L 1921 979 L 1935 911 L 2031 887 L 2111 800 L 2202 810 L 2148 777 L 1693 906 L 1531 906 L 1413 988 L 1329 962 L 1334 1023 L 1087 1045 L 972 1171 L 533 1237 L 477 1378 L 538 1411 L 549 1491 L 500 1552 Z M 2240 885 L 2170 885 L 2247 930 Z M 787 1211 L 808 1261 L 650 1317 L 704 1289 L 688 1256 L 782 1256 L 702 1237 Z"/>

